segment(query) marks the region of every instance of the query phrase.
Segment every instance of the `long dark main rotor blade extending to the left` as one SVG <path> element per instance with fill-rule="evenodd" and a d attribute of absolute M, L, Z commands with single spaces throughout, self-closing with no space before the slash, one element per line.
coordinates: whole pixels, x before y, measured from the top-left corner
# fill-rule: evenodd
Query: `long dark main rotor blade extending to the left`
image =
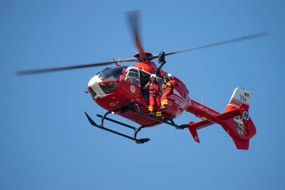
<path fill-rule="evenodd" d="M 115 60 L 115 62 L 132 62 L 137 61 L 137 58 L 127 58 L 123 60 Z M 74 68 L 90 68 L 90 67 L 97 67 L 101 65 L 110 65 L 113 64 L 114 61 L 107 61 L 107 62 L 101 62 L 101 63 L 89 63 L 84 65 L 71 65 L 66 67 L 58 67 L 58 68 L 41 68 L 41 69 L 31 69 L 31 70 L 19 70 L 16 72 L 17 75 L 29 75 L 29 74 L 36 74 L 36 73 L 46 73 L 46 72 L 52 72 L 52 71 L 58 71 L 58 70 L 68 70 L 68 69 L 74 69 Z"/>

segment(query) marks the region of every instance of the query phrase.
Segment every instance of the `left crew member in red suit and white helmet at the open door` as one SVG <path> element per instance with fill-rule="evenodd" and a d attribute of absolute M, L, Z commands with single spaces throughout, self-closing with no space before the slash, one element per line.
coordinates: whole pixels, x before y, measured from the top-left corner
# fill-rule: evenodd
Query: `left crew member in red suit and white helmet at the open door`
<path fill-rule="evenodd" d="M 148 93 L 150 95 L 150 105 L 148 107 L 149 115 L 155 115 L 153 110 L 157 110 L 156 117 L 161 117 L 161 112 L 159 111 L 160 107 L 160 84 L 157 82 L 157 75 L 152 74 L 150 75 L 150 82 L 148 82 L 145 87 L 143 88 L 145 90 L 148 90 Z"/>

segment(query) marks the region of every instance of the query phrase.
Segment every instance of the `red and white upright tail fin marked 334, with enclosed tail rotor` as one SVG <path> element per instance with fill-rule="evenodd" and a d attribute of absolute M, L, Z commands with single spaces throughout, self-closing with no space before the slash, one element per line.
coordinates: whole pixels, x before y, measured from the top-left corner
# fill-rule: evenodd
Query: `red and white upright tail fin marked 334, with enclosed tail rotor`
<path fill-rule="evenodd" d="M 218 116 L 227 120 L 222 127 L 232 137 L 238 149 L 249 149 L 249 139 L 256 134 L 254 123 L 249 117 L 251 95 L 252 93 L 242 88 L 236 88 L 224 113 Z"/>

